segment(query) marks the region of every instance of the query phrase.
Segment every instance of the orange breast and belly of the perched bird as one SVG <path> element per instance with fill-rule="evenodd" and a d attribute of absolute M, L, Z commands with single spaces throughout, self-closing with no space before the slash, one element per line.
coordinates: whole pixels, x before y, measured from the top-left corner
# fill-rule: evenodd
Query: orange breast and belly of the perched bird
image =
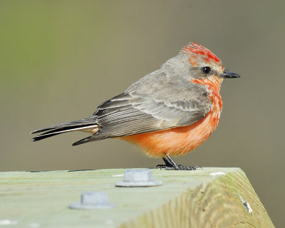
<path fill-rule="evenodd" d="M 197 82 L 195 82 L 197 83 Z M 201 83 L 201 81 L 199 81 Z M 207 81 L 209 98 L 212 108 L 207 115 L 192 125 L 177 127 L 154 133 L 143 133 L 121 137 L 122 140 L 139 145 L 144 152 L 152 157 L 168 155 L 183 155 L 197 148 L 209 138 L 217 128 L 219 115 L 222 111 L 222 98 L 219 94 L 219 81 Z"/>

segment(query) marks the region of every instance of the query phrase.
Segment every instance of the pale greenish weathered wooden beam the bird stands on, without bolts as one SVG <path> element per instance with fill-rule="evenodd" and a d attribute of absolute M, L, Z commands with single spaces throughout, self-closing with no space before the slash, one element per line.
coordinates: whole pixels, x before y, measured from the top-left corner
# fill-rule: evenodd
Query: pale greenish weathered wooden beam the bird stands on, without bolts
<path fill-rule="evenodd" d="M 125 170 L 0 172 L 3 227 L 274 227 L 239 168 L 152 170 L 159 187 L 114 187 Z M 220 175 L 211 175 L 211 173 Z M 76 210 L 81 192 L 108 192 L 112 209 Z M 242 199 L 252 207 L 250 214 Z"/>

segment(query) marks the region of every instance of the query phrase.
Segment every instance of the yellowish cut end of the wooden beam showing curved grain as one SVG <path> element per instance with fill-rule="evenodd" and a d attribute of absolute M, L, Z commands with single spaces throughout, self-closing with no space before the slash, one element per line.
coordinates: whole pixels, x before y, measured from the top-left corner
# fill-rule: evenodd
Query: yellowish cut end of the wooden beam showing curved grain
<path fill-rule="evenodd" d="M 242 199 L 252 207 L 249 213 Z M 157 209 L 120 226 L 127 227 L 274 227 L 242 170 L 188 189 Z"/>

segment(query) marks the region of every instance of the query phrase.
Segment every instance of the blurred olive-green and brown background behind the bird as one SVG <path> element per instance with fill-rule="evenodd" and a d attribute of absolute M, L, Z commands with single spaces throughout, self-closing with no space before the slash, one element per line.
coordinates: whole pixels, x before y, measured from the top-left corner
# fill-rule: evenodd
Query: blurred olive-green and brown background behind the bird
<path fill-rule="evenodd" d="M 276 227 L 284 216 L 284 1 L 0 1 L 0 170 L 155 167 L 120 140 L 32 130 L 91 115 L 189 41 L 242 75 L 219 127 L 184 165 L 241 167 Z"/>

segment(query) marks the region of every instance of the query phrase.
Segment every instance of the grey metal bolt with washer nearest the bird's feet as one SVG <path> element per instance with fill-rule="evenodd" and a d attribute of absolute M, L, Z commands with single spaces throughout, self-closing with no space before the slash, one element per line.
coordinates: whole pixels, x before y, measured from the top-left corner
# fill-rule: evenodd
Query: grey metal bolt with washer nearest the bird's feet
<path fill-rule="evenodd" d="M 152 180 L 150 170 L 126 170 L 124 180 L 115 183 L 116 187 L 151 187 L 162 185 L 162 181 Z"/>

